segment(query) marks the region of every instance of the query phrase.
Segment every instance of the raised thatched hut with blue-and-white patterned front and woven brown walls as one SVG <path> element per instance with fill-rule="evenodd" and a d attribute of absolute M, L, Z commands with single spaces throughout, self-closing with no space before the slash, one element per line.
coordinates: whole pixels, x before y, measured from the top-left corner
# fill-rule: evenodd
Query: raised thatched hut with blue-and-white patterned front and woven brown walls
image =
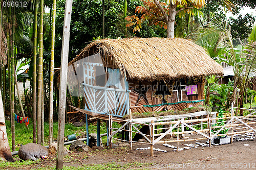
<path fill-rule="evenodd" d="M 70 91 L 79 91 L 71 86 L 83 87 L 83 112 L 119 122 L 130 112 L 203 105 L 205 76 L 223 74 L 222 66 L 201 46 L 181 38 L 97 40 L 69 63 L 69 69 L 74 70 L 69 71 Z"/>

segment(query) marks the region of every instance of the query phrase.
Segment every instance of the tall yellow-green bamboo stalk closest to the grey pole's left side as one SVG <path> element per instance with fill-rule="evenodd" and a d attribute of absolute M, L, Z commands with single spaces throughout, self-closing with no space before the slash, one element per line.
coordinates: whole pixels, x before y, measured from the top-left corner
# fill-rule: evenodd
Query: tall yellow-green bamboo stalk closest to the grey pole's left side
<path fill-rule="evenodd" d="M 52 41 L 51 41 L 51 62 L 50 62 L 50 106 L 49 106 L 49 148 L 52 146 L 52 119 L 53 119 L 53 78 L 54 78 L 54 44 L 55 44 L 55 20 L 56 20 L 56 0 L 53 0 L 52 9 Z"/>

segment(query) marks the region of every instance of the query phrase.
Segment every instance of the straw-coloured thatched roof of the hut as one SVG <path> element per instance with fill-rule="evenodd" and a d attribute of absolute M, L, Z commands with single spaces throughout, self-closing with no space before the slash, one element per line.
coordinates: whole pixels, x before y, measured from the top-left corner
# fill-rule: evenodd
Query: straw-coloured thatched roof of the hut
<path fill-rule="evenodd" d="M 223 75 L 220 64 L 194 42 L 181 38 L 102 39 L 90 43 L 72 61 L 102 53 L 130 79 L 160 80 Z"/>

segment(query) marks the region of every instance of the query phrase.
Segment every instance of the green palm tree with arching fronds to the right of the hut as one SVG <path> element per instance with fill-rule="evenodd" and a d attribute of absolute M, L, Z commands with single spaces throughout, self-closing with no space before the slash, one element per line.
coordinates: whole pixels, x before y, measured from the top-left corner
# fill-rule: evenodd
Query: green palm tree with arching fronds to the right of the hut
<path fill-rule="evenodd" d="M 208 28 L 203 30 L 197 43 L 205 48 L 223 48 L 228 59 L 228 64 L 234 68 L 234 91 L 230 101 L 234 102 L 237 89 L 241 89 L 242 100 L 240 101 L 240 107 L 243 108 L 243 99 L 247 82 L 253 75 L 251 73 L 255 72 L 255 42 L 252 41 L 245 46 L 243 53 L 237 56 L 232 44 L 230 26 L 225 20 L 215 20 L 215 22 L 210 23 Z M 242 109 L 240 115 L 243 115 Z"/>

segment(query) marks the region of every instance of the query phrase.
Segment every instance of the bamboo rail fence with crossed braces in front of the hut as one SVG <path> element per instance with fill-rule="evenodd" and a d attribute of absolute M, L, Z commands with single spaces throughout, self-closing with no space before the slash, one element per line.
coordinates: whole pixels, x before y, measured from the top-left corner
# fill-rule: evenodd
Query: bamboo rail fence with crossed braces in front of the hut
<path fill-rule="evenodd" d="M 226 135 L 231 136 L 231 143 L 232 143 L 234 134 L 242 134 L 242 133 L 253 132 L 253 131 L 256 132 L 256 115 L 253 115 L 253 113 L 256 113 L 256 112 L 253 112 L 245 116 L 235 116 L 234 109 L 240 109 L 240 108 L 233 107 L 233 104 L 232 104 L 231 116 L 229 117 L 214 117 L 214 116 L 210 116 L 211 114 L 207 114 L 205 118 L 201 116 L 201 118 L 197 118 L 197 119 L 180 118 L 176 120 L 166 120 L 166 118 L 165 119 L 152 118 L 150 123 L 135 122 L 135 119 L 132 119 L 131 113 L 130 113 L 130 119 L 124 120 L 124 124 L 119 129 L 112 128 L 112 123 L 113 121 L 115 121 L 115 118 L 113 118 L 110 115 L 110 118 L 109 118 L 110 134 L 108 139 L 110 140 L 111 146 L 113 144 L 112 139 L 130 142 L 130 149 L 132 149 L 133 142 L 150 144 L 151 156 L 154 155 L 154 152 L 153 152 L 154 145 L 160 144 L 160 143 L 176 142 L 177 148 L 179 148 L 179 142 L 182 142 L 182 141 L 195 141 L 195 140 L 208 139 L 209 147 L 211 147 L 211 142 L 210 142 L 211 140 L 213 140 L 217 136 L 226 136 Z M 253 111 L 253 109 L 246 109 L 246 110 Z M 148 118 L 147 118 L 147 122 L 148 122 Z M 137 125 L 148 126 L 150 128 L 150 134 L 143 134 L 136 127 Z M 129 128 L 124 129 L 125 126 L 128 126 Z M 188 128 L 189 130 L 184 131 L 184 128 Z M 113 132 L 113 130 L 116 130 L 116 131 Z M 129 140 L 127 139 L 123 140 L 123 139 L 118 139 L 114 137 L 114 135 L 121 130 L 129 132 Z M 163 133 L 163 130 L 166 130 L 166 131 Z M 224 134 L 221 133 L 223 132 L 223 130 L 227 130 L 227 132 Z M 132 140 L 133 133 L 141 134 L 145 138 L 145 141 L 143 142 L 133 141 Z M 199 134 L 199 137 L 193 138 L 193 139 L 180 139 L 180 135 L 184 137 L 188 133 Z M 173 140 L 169 140 L 167 135 L 171 135 L 171 136 L 176 135 L 177 138 Z"/>

